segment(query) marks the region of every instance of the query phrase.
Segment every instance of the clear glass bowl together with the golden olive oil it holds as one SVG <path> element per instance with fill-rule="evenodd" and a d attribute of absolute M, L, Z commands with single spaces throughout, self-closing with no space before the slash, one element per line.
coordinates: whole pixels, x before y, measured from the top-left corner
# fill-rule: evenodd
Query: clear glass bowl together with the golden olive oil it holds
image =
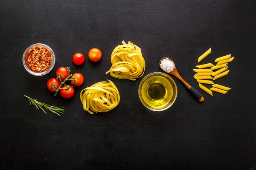
<path fill-rule="evenodd" d="M 154 72 L 140 82 L 139 97 L 143 105 L 152 111 L 170 108 L 177 97 L 177 86 L 168 74 Z"/>

